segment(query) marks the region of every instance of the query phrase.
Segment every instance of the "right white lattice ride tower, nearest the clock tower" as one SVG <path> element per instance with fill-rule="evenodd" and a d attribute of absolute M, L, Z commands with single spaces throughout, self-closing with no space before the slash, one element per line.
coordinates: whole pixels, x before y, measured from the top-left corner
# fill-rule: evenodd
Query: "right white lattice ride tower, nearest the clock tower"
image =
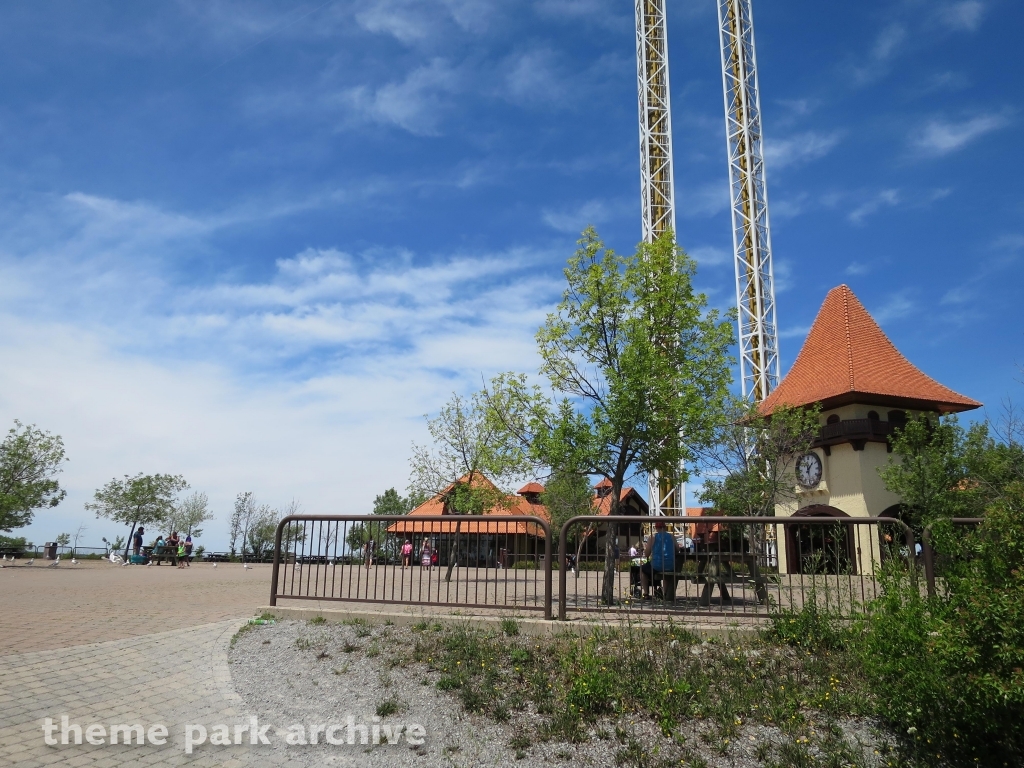
<path fill-rule="evenodd" d="M 760 402 L 778 384 L 779 360 L 751 2 L 718 0 L 718 22 L 739 312 L 739 374 L 743 396 Z"/>

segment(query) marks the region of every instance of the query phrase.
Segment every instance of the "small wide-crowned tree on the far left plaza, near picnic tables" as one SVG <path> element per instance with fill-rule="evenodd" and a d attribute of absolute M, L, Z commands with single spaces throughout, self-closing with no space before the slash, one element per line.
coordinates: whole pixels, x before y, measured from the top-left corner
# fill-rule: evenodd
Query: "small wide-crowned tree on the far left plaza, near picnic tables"
<path fill-rule="evenodd" d="M 85 508 L 95 512 L 96 517 L 131 525 L 125 544 L 127 559 L 135 528 L 166 522 L 174 512 L 175 498 L 187 487 L 181 475 L 125 475 L 124 479 L 114 478 L 97 489 Z"/>

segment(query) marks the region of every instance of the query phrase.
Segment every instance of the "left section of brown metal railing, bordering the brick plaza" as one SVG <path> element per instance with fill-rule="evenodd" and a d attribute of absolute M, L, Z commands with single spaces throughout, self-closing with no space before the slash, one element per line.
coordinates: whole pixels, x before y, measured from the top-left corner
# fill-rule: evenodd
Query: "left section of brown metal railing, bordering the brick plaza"
<path fill-rule="evenodd" d="M 280 599 L 552 613 L 551 529 L 519 515 L 289 516 L 278 525 Z"/>

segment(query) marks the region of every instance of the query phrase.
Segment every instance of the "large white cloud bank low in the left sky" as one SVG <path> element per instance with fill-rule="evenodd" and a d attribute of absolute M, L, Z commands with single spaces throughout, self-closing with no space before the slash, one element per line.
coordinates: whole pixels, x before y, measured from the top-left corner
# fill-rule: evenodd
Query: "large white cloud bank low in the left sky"
<path fill-rule="evenodd" d="M 88 521 L 93 489 L 139 471 L 209 493 L 218 549 L 240 490 L 365 512 L 404 485 L 424 413 L 537 370 L 561 287 L 538 273 L 548 254 L 309 249 L 266 279 L 179 283 L 180 246 L 220 220 L 78 195 L 0 233 L 0 424 L 57 432 L 72 458 L 68 501 L 30 538 Z M 90 523 L 96 541 L 118 532 Z"/>

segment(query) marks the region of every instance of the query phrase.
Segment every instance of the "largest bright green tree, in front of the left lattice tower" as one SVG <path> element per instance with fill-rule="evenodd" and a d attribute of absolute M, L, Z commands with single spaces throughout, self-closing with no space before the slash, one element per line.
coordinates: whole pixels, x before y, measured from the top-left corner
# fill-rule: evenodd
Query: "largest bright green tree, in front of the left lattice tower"
<path fill-rule="evenodd" d="M 608 478 L 613 515 L 628 476 L 688 465 L 721 421 L 732 326 L 693 290 L 695 271 L 672 232 L 620 256 L 588 228 L 562 301 L 537 335 L 541 373 L 562 399 L 514 374 L 487 393 L 496 420 L 536 462 Z M 606 537 L 609 604 L 613 565 Z"/>

